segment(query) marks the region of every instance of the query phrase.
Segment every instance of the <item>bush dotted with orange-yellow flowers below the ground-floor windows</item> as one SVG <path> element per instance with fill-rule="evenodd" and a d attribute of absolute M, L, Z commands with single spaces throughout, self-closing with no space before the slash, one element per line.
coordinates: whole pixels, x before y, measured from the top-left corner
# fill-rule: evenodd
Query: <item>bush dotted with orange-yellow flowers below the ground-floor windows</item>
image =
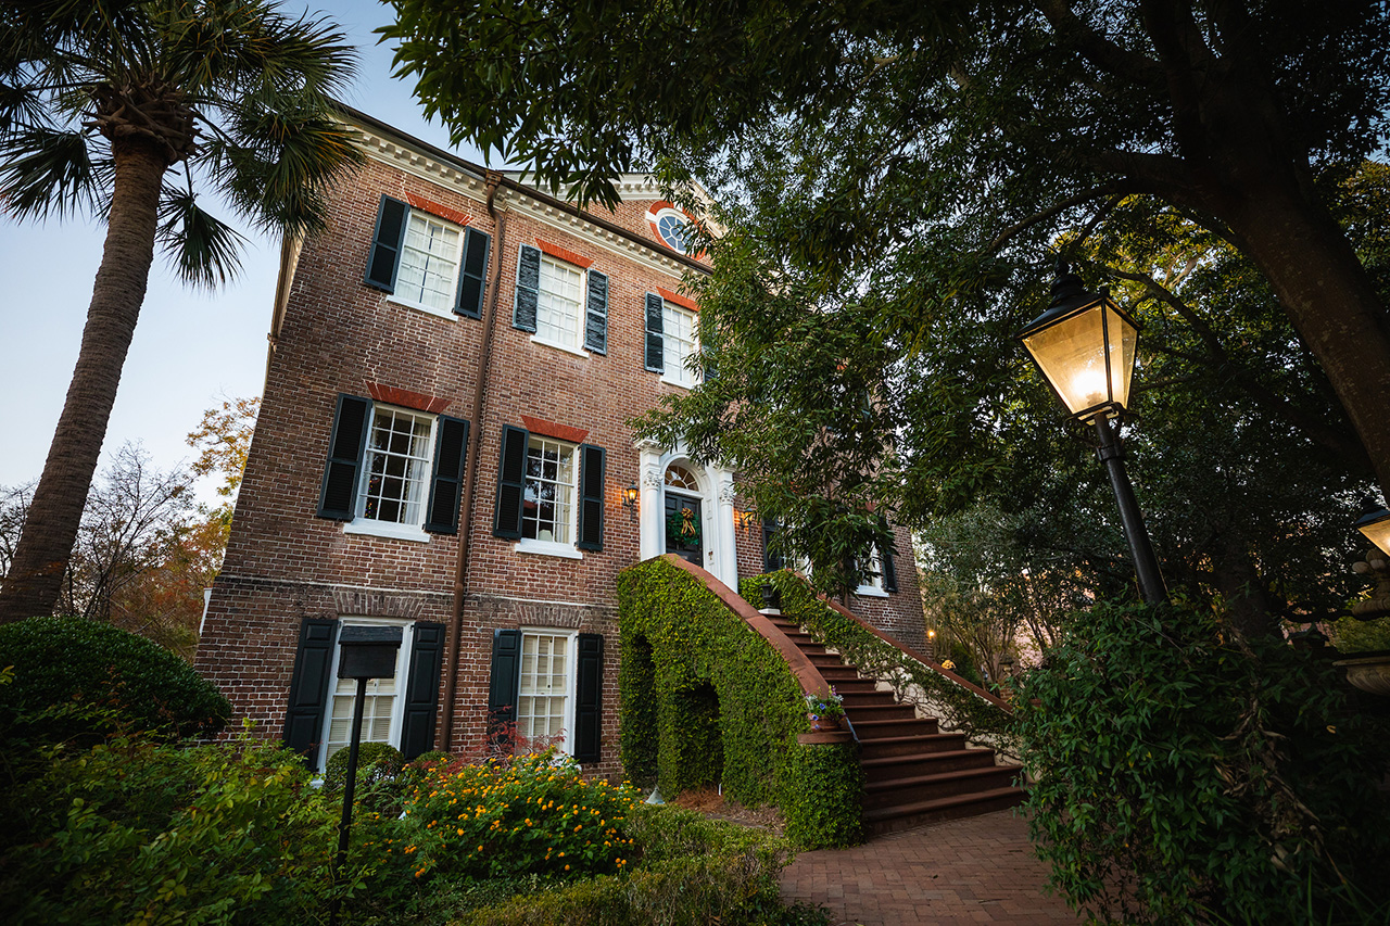
<path fill-rule="evenodd" d="M 626 784 L 585 781 L 555 751 L 455 762 L 431 773 L 406 804 L 420 838 L 385 848 L 416 855 L 417 879 L 614 873 L 631 856 L 621 825 L 637 801 Z"/>

